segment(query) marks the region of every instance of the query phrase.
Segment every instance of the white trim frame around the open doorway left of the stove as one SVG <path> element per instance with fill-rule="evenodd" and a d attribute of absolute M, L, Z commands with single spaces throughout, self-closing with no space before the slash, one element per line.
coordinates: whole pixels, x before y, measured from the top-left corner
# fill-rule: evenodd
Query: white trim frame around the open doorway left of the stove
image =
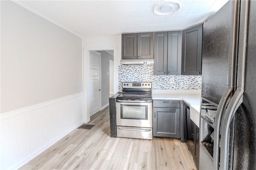
<path fill-rule="evenodd" d="M 90 79 L 90 51 L 114 50 L 114 94 L 118 92 L 118 56 L 117 46 L 103 47 L 84 47 L 83 48 L 83 93 L 84 93 L 84 123 L 90 121 L 90 98 L 89 98 L 89 79 Z"/>

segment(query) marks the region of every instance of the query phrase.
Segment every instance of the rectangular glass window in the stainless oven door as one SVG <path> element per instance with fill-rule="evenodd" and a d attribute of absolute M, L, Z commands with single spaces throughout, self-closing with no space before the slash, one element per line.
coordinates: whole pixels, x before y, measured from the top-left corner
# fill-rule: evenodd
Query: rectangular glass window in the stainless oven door
<path fill-rule="evenodd" d="M 121 105 L 121 119 L 148 120 L 147 105 Z"/>

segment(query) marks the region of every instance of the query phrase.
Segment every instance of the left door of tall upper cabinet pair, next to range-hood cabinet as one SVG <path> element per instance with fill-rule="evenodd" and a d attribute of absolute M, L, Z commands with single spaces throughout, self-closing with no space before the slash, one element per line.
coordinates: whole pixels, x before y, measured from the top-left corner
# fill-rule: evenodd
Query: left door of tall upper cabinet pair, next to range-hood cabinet
<path fill-rule="evenodd" d="M 154 75 L 167 75 L 167 32 L 154 33 Z"/>

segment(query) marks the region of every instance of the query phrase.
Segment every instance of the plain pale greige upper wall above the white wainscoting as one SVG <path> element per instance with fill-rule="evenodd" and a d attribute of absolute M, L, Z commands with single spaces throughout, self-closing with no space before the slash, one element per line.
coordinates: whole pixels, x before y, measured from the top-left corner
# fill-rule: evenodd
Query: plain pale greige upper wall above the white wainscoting
<path fill-rule="evenodd" d="M 1 113 L 82 90 L 82 39 L 1 1 Z"/>

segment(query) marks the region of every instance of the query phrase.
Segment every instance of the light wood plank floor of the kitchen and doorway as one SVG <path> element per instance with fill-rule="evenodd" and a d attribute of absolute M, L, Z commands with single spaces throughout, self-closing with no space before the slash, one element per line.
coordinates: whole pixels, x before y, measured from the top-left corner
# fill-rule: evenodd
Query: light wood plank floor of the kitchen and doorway
<path fill-rule="evenodd" d="M 108 107 L 87 124 L 95 126 L 75 129 L 20 169 L 196 170 L 179 139 L 111 138 Z"/>

